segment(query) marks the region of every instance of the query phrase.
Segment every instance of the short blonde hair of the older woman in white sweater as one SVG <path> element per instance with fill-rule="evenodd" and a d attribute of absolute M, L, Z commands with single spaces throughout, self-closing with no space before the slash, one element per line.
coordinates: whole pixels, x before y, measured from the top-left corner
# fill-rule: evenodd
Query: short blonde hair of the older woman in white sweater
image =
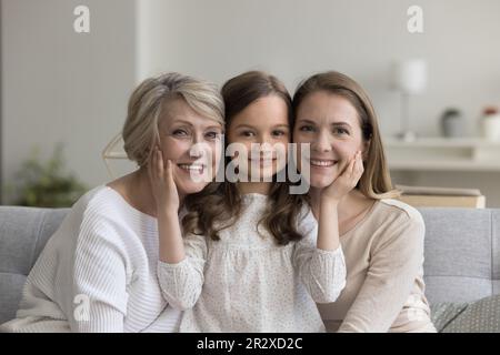
<path fill-rule="evenodd" d="M 122 129 L 127 156 L 139 166 L 146 164 L 159 136 L 159 119 L 170 100 L 181 98 L 198 114 L 224 125 L 224 104 L 216 85 L 179 73 L 146 79 L 129 99 Z"/>

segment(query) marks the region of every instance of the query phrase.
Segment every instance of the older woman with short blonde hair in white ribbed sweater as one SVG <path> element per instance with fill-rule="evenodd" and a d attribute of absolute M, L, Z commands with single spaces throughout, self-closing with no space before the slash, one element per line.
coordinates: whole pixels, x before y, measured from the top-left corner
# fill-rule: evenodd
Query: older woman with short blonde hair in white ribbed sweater
<path fill-rule="evenodd" d="M 221 144 L 223 102 L 207 82 L 168 73 L 132 93 L 122 138 L 139 169 L 83 195 L 49 240 L 28 276 L 10 332 L 172 332 L 179 311 L 162 297 L 157 276 L 166 241 L 179 230 L 162 214 L 166 191 L 150 182 L 153 146 L 171 162 L 178 205 L 207 182 L 202 154 Z M 203 143 L 207 150 L 192 149 Z M 216 159 L 208 160 L 216 162 Z M 158 164 L 158 162 L 156 162 Z M 200 168 L 201 166 L 201 168 Z M 154 186 L 157 187 L 157 186 Z"/>

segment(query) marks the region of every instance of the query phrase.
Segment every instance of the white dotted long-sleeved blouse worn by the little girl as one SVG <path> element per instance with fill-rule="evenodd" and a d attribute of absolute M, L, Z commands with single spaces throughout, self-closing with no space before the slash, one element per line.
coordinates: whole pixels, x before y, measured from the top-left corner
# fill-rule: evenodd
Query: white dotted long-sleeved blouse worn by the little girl
<path fill-rule="evenodd" d="M 324 332 L 314 302 L 333 302 L 346 285 L 341 247 L 317 248 L 309 209 L 299 219 L 303 239 L 280 246 L 258 221 L 268 197 L 243 195 L 241 217 L 220 241 L 184 239 L 187 257 L 158 264 L 169 304 L 186 310 L 180 332 Z"/>

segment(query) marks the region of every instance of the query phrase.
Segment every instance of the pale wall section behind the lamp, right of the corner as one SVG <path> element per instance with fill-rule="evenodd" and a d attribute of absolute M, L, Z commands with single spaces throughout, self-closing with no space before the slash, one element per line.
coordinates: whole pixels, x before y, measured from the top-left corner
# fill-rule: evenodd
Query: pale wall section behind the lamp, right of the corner
<path fill-rule="evenodd" d="M 407 30 L 407 9 L 423 9 L 424 32 Z M 411 99 L 412 128 L 439 134 L 439 115 L 463 111 L 468 134 L 487 104 L 500 105 L 498 0 L 148 0 L 139 3 L 138 74 L 180 71 L 221 84 L 249 69 L 297 83 L 339 70 L 364 85 L 382 132 L 399 131 L 399 95 L 389 73 L 394 60 L 424 58 L 427 91 Z M 480 187 L 500 207 L 500 174 L 394 174 L 397 183 Z M 473 178 L 473 179 L 471 179 Z"/>

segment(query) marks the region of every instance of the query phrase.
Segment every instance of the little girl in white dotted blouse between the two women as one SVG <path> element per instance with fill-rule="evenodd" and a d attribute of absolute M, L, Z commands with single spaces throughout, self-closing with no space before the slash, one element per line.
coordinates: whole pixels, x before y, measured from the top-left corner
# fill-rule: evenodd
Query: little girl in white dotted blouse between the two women
<path fill-rule="evenodd" d="M 184 226 L 192 233 L 184 244 L 180 233 L 169 234 L 171 253 L 159 267 L 166 298 L 187 310 L 181 332 L 323 332 L 314 301 L 337 300 L 346 268 L 331 215 L 321 215 L 318 226 L 303 197 L 276 179 L 284 168 L 278 150 L 289 144 L 293 123 L 290 95 L 274 77 L 248 72 L 229 80 L 222 97 L 227 143 L 249 153 L 231 156 L 237 182 L 187 201 L 192 213 Z M 252 143 L 268 148 L 256 151 Z M 356 185 L 360 166 L 353 160 L 336 187 Z M 326 213 L 333 213 L 330 192 Z"/>

